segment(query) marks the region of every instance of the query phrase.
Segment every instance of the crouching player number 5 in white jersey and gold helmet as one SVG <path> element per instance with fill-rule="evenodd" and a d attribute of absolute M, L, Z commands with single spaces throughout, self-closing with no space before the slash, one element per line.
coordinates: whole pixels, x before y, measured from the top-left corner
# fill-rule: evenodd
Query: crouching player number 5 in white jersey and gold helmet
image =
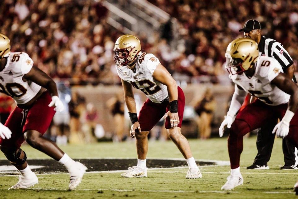
<path fill-rule="evenodd" d="M 270 117 L 280 119 L 272 133 L 298 146 L 298 87 L 282 73 L 281 65 L 274 58 L 259 55 L 258 44 L 252 39 L 233 40 L 228 45 L 226 58 L 229 77 L 236 85 L 229 111 L 219 127 L 220 137 L 226 127 L 230 132 L 231 175 L 221 189 L 231 190 L 243 183 L 240 173 L 243 136 Z M 237 113 L 247 93 L 258 100 Z"/>

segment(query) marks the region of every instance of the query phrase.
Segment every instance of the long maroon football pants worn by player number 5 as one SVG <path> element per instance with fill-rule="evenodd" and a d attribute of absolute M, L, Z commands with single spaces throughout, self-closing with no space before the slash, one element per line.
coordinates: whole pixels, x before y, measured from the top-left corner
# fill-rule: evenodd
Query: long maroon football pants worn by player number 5
<path fill-rule="evenodd" d="M 248 104 L 240 111 L 233 122 L 228 138 L 228 151 L 230 156 L 231 169 L 240 166 L 240 155 L 243 150 L 243 136 L 257 128 L 260 128 L 266 120 L 272 117 L 282 119 L 287 111 L 287 104 L 278 106 L 269 106 L 260 100 Z M 289 134 L 286 138 L 288 141 L 298 147 L 298 111 L 290 122 Z"/>

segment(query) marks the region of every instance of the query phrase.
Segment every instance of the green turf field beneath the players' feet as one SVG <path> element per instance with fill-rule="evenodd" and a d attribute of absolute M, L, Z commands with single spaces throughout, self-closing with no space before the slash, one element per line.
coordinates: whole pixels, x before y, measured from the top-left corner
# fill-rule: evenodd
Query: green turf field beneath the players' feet
<path fill-rule="evenodd" d="M 168 165 L 167 161 L 160 160 L 161 166 L 158 164 L 158 160 L 152 160 L 148 167 L 152 168 L 156 165 L 156 167 L 175 166 L 174 168 L 149 169 L 147 178 L 121 178 L 121 171 L 118 170 L 131 166 L 134 162 L 136 163 L 136 160 L 121 161 L 118 159 L 136 158 L 135 143 L 105 142 L 61 147 L 71 157 L 88 162 L 87 167 L 89 171 L 92 171 L 85 174 L 83 182 L 77 190 L 67 191 L 69 176 L 63 173 L 63 169 L 57 169 L 62 173 L 44 173 L 37 169 L 36 173 L 40 173 L 38 174 L 39 184 L 28 190 L 7 190 L 17 182 L 17 175 L 11 175 L 11 172 L 0 173 L 0 198 L 298 198 L 292 192 L 292 187 L 298 179 L 298 171 L 279 170 L 279 167 L 283 165 L 281 139 L 276 139 L 274 143 L 269 170 L 245 169 L 253 162 L 256 155 L 255 140 L 256 137 L 244 140 L 241 157 L 244 184 L 236 187 L 233 191 L 220 190 L 229 175 L 229 166 L 201 166 L 203 178 L 185 179 L 187 168 L 183 167 L 181 162 L 174 162 L 174 158 L 181 159 L 182 155 L 171 141 L 149 142 L 147 158 L 171 159 L 168 161 Z M 208 162 L 207 160 L 229 160 L 226 137 L 207 141 L 189 140 L 189 142 L 195 159 L 200 160 L 202 164 Z M 46 155 L 30 146 L 22 146 L 22 149 L 26 151 L 28 160 L 32 160 L 32 162 L 34 162 L 33 159 L 47 159 Z M 109 160 L 84 160 L 100 158 Z M 0 159 L 5 159 L 3 154 L 0 154 Z M 94 168 L 97 165 L 98 168 Z M 48 167 L 55 167 L 55 165 Z M 114 171 L 107 172 L 105 170 Z"/>

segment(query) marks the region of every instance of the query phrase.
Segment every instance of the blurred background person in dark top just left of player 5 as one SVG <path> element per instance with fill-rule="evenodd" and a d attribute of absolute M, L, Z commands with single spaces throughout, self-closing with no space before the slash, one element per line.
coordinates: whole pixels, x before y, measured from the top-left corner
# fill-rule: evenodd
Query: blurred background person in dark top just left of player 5
<path fill-rule="evenodd" d="M 196 118 L 196 121 L 198 125 L 198 135 L 200 135 L 201 140 L 205 140 L 211 135 L 211 123 L 215 107 L 216 102 L 211 89 L 207 88 L 202 98 L 196 100 L 194 105 L 194 109 L 199 116 Z"/>

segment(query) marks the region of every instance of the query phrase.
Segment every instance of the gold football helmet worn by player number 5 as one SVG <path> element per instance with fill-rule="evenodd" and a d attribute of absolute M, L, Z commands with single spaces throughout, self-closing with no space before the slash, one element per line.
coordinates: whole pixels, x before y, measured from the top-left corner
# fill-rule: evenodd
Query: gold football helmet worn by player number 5
<path fill-rule="evenodd" d="M 235 39 L 228 45 L 225 57 L 226 69 L 231 75 L 242 73 L 259 59 L 258 44 L 249 38 Z"/>

